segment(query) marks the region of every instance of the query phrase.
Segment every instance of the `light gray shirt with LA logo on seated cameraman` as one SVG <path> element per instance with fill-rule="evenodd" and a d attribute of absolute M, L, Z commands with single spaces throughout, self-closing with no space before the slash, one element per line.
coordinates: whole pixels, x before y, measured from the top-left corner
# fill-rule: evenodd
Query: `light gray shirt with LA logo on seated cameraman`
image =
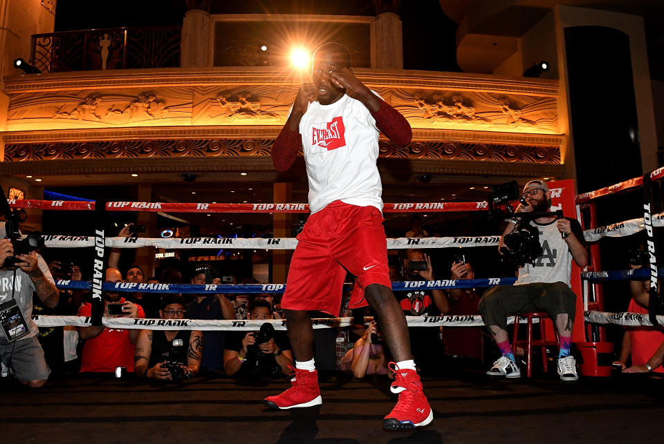
<path fill-rule="evenodd" d="M 584 243 L 583 231 L 577 220 L 569 219 L 571 229 L 575 237 Z M 533 263 L 526 263 L 519 267 L 519 278 L 515 285 L 534 283 L 564 282 L 571 287 L 569 282 L 572 273 L 572 254 L 564 238 L 558 231 L 556 221 L 548 224 L 538 224 L 531 221 L 531 225 L 540 229 L 540 243 L 542 244 L 542 255 Z"/>

